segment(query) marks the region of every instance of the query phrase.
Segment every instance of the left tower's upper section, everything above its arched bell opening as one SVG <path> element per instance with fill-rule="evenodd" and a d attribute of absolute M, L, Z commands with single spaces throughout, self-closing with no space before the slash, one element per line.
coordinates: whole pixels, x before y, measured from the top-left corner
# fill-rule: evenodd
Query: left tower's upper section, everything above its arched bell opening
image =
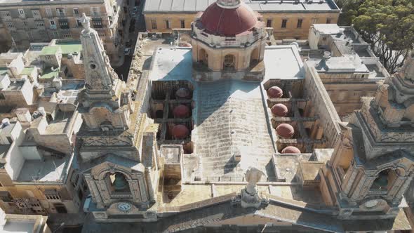
<path fill-rule="evenodd" d="M 91 28 L 90 20 L 84 15 L 84 30 L 81 32 L 86 75 L 86 88 L 79 95 L 79 112 L 84 118 L 84 126 L 78 135 L 82 140 L 81 157 L 90 160 L 112 152 L 139 160 L 136 138 L 128 133 L 134 110 L 131 91 L 109 65 L 100 37 Z"/>

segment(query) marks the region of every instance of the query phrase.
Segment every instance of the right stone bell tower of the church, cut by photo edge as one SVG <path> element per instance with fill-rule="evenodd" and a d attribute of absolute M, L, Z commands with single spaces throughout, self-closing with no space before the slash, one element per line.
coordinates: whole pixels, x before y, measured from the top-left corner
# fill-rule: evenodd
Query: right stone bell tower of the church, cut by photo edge
<path fill-rule="evenodd" d="M 394 218 L 414 176 L 414 53 L 363 98 L 326 168 L 321 190 L 340 218 Z"/>

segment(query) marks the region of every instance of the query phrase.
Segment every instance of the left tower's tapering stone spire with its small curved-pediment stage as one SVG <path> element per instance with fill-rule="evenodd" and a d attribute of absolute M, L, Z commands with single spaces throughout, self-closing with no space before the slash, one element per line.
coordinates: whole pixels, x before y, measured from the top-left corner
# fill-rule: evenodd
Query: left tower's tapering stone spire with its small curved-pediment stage
<path fill-rule="evenodd" d="M 86 89 L 81 93 L 81 107 L 88 131 L 113 131 L 129 128 L 133 106 L 125 82 L 109 65 L 98 33 L 91 28 L 91 18 L 84 14 L 81 42 L 84 55 Z"/>

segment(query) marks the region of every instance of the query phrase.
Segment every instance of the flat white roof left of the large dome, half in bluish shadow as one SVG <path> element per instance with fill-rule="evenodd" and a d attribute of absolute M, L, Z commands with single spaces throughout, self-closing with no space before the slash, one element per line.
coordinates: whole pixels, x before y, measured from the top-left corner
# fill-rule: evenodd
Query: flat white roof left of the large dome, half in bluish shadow
<path fill-rule="evenodd" d="M 159 47 L 154 51 L 152 59 L 150 80 L 192 80 L 191 48 Z"/>

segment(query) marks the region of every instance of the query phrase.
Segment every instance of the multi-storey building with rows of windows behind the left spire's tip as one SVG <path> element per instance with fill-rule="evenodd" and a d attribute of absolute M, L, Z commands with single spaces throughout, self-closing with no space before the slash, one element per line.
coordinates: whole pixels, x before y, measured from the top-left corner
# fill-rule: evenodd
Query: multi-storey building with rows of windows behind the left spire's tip
<path fill-rule="evenodd" d="M 104 42 L 113 62 L 123 54 L 123 26 L 126 24 L 126 1 L 65 0 L 65 1 L 0 1 L 0 18 L 11 43 L 26 49 L 32 42 L 52 39 L 79 39 L 81 15 L 93 18 L 93 27 Z M 0 30 L 1 30 L 0 27 Z"/>

